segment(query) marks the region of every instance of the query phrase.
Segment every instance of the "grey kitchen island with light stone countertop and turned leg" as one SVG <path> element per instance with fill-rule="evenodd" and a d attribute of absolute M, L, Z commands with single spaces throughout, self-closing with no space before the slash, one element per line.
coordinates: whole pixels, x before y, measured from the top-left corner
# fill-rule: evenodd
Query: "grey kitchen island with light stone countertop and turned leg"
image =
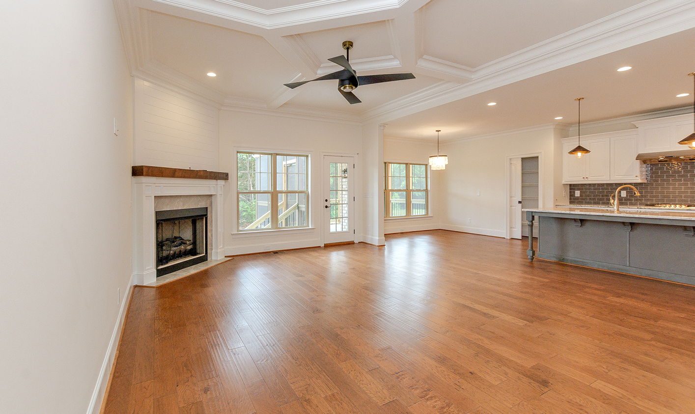
<path fill-rule="evenodd" d="M 530 208 L 528 258 L 695 285 L 695 212 L 656 208 Z M 533 222 L 539 218 L 537 252 Z"/>

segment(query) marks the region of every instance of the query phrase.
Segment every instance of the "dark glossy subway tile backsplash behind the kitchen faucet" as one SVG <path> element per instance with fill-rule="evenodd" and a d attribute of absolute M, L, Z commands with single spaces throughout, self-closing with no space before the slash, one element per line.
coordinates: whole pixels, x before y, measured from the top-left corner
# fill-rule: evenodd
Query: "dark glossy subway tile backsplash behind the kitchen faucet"
<path fill-rule="evenodd" d="M 621 206 L 646 204 L 695 204 L 695 161 L 646 165 L 646 183 L 629 183 L 641 197 L 629 188 L 628 197 L 621 197 Z M 570 184 L 569 204 L 608 206 L 610 194 L 623 183 Z M 580 197 L 574 197 L 575 191 Z"/>

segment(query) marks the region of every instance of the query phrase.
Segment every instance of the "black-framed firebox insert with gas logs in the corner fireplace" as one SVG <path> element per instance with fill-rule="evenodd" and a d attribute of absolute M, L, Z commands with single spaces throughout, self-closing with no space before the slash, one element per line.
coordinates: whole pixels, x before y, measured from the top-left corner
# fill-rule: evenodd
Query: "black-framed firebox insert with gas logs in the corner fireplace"
<path fill-rule="evenodd" d="M 157 276 L 208 260 L 208 208 L 156 211 Z"/>

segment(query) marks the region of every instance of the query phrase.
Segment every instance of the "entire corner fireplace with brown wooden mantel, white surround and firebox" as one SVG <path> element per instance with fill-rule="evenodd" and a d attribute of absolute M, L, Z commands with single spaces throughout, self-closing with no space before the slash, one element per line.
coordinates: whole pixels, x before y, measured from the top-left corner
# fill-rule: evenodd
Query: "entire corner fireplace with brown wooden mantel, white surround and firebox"
<path fill-rule="evenodd" d="M 192 177 L 192 178 L 189 178 Z M 196 260 L 224 258 L 224 220 L 222 192 L 228 174 L 190 169 L 135 166 L 133 167 L 133 279 L 136 285 L 154 283 L 156 277 L 166 272 L 158 271 L 163 263 L 183 263 L 184 255 Z M 175 222 L 171 210 L 193 211 L 196 223 L 169 224 Z M 205 210 L 205 217 L 201 217 Z M 164 217 L 164 222 L 161 218 Z M 161 224 L 158 226 L 158 220 Z M 202 220 L 202 221 L 198 221 Z M 164 223 L 167 224 L 164 224 Z M 193 228 L 205 224 L 206 230 L 195 230 L 195 254 L 193 253 Z M 174 234 L 175 231 L 182 231 Z M 166 235 L 164 233 L 167 233 Z M 162 233 L 164 240 L 157 240 Z M 169 234 L 171 233 L 171 234 Z M 165 240 L 171 239 L 171 240 Z M 200 242 L 200 239 L 207 239 Z M 204 246 L 204 247 L 203 247 Z M 158 253 L 158 247 L 162 247 Z M 166 250 L 166 248 L 169 248 Z M 186 251 L 188 250 L 188 252 Z M 167 251 L 165 254 L 163 251 Z M 164 257 L 166 256 L 166 257 Z M 203 260 L 203 261 L 204 261 Z M 179 269 L 176 269 L 179 270 Z M 173 271 L 173 270 L 172 270 Z"/>

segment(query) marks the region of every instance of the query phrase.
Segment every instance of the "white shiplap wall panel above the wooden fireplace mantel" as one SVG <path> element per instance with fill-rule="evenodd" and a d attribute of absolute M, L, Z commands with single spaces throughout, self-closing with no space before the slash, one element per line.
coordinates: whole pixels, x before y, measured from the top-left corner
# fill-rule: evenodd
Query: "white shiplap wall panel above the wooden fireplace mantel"
<path fill-rule="evenodd" d="M 218 171 L 216 108 L 136 79 L 134 109 L 133 165 Z"/>

